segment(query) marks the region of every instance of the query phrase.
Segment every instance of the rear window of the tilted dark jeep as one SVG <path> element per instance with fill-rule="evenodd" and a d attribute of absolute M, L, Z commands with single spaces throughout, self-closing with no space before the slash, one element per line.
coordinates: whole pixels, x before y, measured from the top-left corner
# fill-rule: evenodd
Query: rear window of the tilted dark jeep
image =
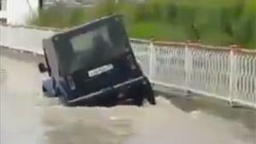
<path fill-rule="evenodd" d="M 113 60 L 125 53 L 126 41 L 123 25 L 114 20 L 93 26 L 90 30 L 80 32 L 69 39 L 60 40 L 55 43 L 55 50 L 61 72 L 70 74 Z"/>

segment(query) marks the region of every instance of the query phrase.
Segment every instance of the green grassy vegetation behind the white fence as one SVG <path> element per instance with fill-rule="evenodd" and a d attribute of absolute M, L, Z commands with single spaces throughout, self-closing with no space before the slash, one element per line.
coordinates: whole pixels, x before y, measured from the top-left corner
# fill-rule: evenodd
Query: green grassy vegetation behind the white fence
<path fill-rule="evenodd" d="M 125 15 L 130 37 L 256 48 L 256 0 L 105 0 L 93 8 L 76 9 L 57 4 L 28 23 L 64 28 L 115 13 Z"/>

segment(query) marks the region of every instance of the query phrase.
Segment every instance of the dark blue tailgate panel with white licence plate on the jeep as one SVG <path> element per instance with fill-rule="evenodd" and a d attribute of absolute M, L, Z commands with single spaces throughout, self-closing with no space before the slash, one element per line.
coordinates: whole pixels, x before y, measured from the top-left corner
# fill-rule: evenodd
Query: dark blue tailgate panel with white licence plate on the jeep
<path fill-rule="evenodd" d="M 73 72 L 76 95 L 88 95 L 101 89 L 142 76 L 143 73 L 131 53 L 107 61 L 104 65 L 92 69 Z"/>

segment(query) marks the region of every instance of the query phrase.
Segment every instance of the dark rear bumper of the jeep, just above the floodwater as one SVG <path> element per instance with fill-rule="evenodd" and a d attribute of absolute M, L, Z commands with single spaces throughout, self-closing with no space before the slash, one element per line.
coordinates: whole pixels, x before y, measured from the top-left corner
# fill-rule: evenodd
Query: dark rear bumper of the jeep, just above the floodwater
<path fill-rule="evenodd" d="M 91 93 L 89 95 L 83 95 L 73 100 L 68 101 L 70 105 L 87 105 L 87 106 L 95 106 L 95 105 L 105 105 L 105 104 L 114 104 L 119 101 L 123 101 L 125 99 L 133 99 L 141 95 L 138 92 L 139 89 L 143 87 L 149 87 L 150 90 L 151 86 L 148 82 L 148 79 L 145 77 L 134 78 L 128 81 L 125 81 L 121 84 L 113 85 L 112 87 L 108 87 L 106 89 L 102 89 Z M 123 93 L 126 93 L 123 95 Z M 134 94 L 138 95 L 134 95 Z M 131 96 L 131 94 L 133 94 Z"/>

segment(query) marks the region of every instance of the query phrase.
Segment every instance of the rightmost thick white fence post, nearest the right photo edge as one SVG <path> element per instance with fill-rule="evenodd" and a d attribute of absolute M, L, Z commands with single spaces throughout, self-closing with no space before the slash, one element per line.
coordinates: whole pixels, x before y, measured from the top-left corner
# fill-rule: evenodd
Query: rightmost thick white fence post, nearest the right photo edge
<path fill-rule="evenodd" d="M 233 83 L 234 83 L 234 72 L 235 72 L 235 56 L 234 56 L 234 50 L 230 49 L 230 89 L 229 89 L 229 99 L 230 99 L 230 107 L 233 107 Z"/>

